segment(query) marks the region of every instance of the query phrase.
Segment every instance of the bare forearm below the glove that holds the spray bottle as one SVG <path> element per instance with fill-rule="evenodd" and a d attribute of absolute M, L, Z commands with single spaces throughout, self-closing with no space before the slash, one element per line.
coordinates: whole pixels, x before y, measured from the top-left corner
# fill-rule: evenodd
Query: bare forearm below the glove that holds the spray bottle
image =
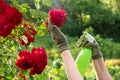
<path fill-rule="evenodd" d="M 104 65 L 103 57 L 93 60 L 97 80 L 112 80 L 107 68 Z"/>

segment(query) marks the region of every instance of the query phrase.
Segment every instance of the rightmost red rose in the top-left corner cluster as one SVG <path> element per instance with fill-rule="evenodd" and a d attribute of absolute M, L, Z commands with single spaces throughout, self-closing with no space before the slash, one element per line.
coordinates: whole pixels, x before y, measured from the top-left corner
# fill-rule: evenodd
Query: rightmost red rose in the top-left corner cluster
<path fill-rule="evenodd" d="M 22 13 L 14 7 L 7 8 L 5 16 L 7 16 L 8 21 L 14 23 L 16 26 L 22 22 Z"/>

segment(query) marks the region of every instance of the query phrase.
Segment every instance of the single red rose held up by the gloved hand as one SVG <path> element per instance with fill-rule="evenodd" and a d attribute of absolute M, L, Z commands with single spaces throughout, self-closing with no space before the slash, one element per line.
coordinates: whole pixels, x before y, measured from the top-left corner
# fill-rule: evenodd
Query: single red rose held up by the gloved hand
<path fill-rule="evenodd" d="M 66 20 L 66 11 L 62 8 L 52 9 L 49 11 L 50 21 L 53 25 L 62 26 L 63 22 Z"/>

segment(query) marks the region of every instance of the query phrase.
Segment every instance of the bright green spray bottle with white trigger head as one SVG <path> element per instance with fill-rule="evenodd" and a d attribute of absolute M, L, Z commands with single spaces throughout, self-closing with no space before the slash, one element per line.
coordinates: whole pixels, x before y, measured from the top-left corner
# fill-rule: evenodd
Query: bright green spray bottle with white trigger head
<path fill-rule="evenodd" d="M 91 36 L 89 33 L 84 32 L 83 34 L 84 34 L 84 40 L 80 44 L 81 45 L 81 51 L 79 52 L 79 54 L 78 54 L 78 56 L 75 60 L 77 68 L 78 68 L 78 70 L 79 70 L 79 72 L 82 76 L 85 75 L 85 71 L 90 64 L 90 60 L 91 60 L 91 56 L 92 56 L 92 49 L 88 48 L 88 47 L 85 47 L 85 45 L 88 42 L 95 42 L 97 44 L 94 37 Z"/>

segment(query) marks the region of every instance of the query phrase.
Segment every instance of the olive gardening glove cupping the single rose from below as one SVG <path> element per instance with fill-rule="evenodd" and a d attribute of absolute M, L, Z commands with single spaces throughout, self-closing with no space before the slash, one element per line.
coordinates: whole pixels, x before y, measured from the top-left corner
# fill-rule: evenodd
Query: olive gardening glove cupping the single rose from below
<path fill-rule="evenodd" d="M 56 25 L 53 25 L 50 22 L 50 20 L 48 20 L 48 31 L 52 39 L 58 45 L 60 52 L 69 49 L 68 40 L 66 36 L 61 32 L 61 30 Z"/>

